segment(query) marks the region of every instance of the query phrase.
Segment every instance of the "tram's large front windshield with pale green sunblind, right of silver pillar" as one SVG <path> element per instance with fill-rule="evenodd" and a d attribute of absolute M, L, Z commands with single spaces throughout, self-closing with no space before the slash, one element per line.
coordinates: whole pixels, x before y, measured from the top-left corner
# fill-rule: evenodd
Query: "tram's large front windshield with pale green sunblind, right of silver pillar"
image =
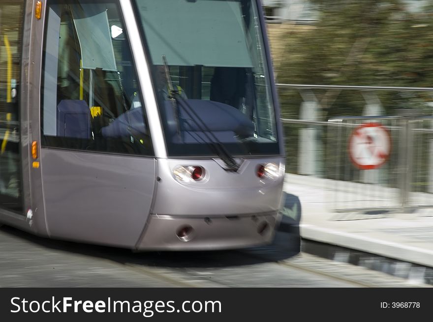
<path fill-rule="evenodd" d="M 278 154 L 254 0 L 135 0 L 170 156 Z"/>

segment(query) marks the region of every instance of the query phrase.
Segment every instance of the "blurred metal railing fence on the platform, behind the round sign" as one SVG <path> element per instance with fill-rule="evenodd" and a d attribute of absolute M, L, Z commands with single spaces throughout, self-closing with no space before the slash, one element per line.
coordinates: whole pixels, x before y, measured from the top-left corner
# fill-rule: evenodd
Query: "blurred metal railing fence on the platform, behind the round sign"
<path fill-rule="evenodd" d="M 433 88 L 278 85 L 297 89 L 433 92 Z M 395 116 L 345 116 L 328 121 L 282 118 L 286 171 L 330 179 L 327 189 L 337 212 L 433 208 L 433 117 L 412 109 L 395 112 Z M 380 123 L 391 139 L 389 156 L 377 169 L 360 169 L 349 156 L 350 135 L 368 122 Z M 314 171 L 305 173 L 306 163 Z"/>

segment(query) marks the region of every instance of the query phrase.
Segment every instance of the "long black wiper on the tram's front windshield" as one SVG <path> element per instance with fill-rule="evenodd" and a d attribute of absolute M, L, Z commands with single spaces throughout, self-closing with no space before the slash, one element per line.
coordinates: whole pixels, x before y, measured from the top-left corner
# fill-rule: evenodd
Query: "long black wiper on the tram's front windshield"
<path fill-rule="evenodd" d="M 215 153 L 218 155 L 218 157 L 225 163 L 227 166 L 228 171 L 238 171 L 240 168 L 240 165 L 236 162 L 236 160 L 233 158 L 233 156 L 227 151 L 225 146 L 221 143 L 221 141 L 218 140 L 216 135 L 209 129 L 209 127 L 206 125 L 205 121 L 203 121 L 198 114 L 194 111 L 194 109 L 186 102 L 186 100 L 179 94 L 179 91 L 174 88 L 173 82 L 170 78 L 170 73 L 168 70 L 168 64 L 167 59 L 165 58 L 165 55 L 162 55 L 162 62 L 164 64 L 165 68 L 165 77 L 167 80 L 168 88 L 169 88 L 169 98 L 172 101 L 173 104 L 173 110 L 175 113 L 175 120 L 178 128 L 178 135 L 180 137 L 181 129 L 180 129 L 180 112 L 179 112 L 179 105 L 181 105 L 185 111 L 185 113 L 188 115 L 188 117 L 197 125 L 198 129 L 206 136 L 206 139 L 209 140 L 209 142 L 203 140 L 206 144 L 213 147 Z M 212 136 L 212 138 L 211 138 Z"/>

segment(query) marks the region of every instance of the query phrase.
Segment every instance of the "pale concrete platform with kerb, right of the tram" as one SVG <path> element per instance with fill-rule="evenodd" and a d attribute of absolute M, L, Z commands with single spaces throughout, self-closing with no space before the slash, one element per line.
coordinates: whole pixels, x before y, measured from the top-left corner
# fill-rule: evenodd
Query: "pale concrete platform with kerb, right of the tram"
<path fill-rule="evenodd" d="M 335 184 L 332 181 L 334 180 L 286 174 L 284 212 L 287 218 L 284 221 L 299 222 L 300 235 L 305 241 L 346 249 L 346 252 L 332 252 L 337 260 L 349 262 L 350 253 L 359 252 L 376 256 L 376 262 L 381 261 L 384 265 L 385 262 L 389 264 L 385 259 L 406 263 L 406 269 L 401 274 L 407 277 L 411 274 L 413 276 L 414 269 L 417 272 L 415 275 L 421 278 L 430 275 L 429 272 L 433 274 L 432 208 L 418 209 L 411 213 L 362 209 L 336 212 L 336 202 L 345 203 L 344 207 L 350 208 L 353 192 L 339 191 L 336 201 Z M 366 184 L 365 191 L 368 192 L 370 187 L 372 186 Z M 362 196 L 358 197 L 359 200 L 363 199 Z M 311 252 L 311 249 L 313 248 L 309 245 L 309 250 L 303 251 Z M 394 269 L 399 270 L 402 271 Z"/>

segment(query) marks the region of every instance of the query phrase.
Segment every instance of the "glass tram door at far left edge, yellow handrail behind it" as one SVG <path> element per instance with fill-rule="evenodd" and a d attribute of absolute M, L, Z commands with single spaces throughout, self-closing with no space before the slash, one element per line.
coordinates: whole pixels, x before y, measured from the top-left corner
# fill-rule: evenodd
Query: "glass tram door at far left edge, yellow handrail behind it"
<path fill-rule="evenodd" d="M 24 1 L 0 3 L 0 208 L 22 213 L 19 85 Z"/>

